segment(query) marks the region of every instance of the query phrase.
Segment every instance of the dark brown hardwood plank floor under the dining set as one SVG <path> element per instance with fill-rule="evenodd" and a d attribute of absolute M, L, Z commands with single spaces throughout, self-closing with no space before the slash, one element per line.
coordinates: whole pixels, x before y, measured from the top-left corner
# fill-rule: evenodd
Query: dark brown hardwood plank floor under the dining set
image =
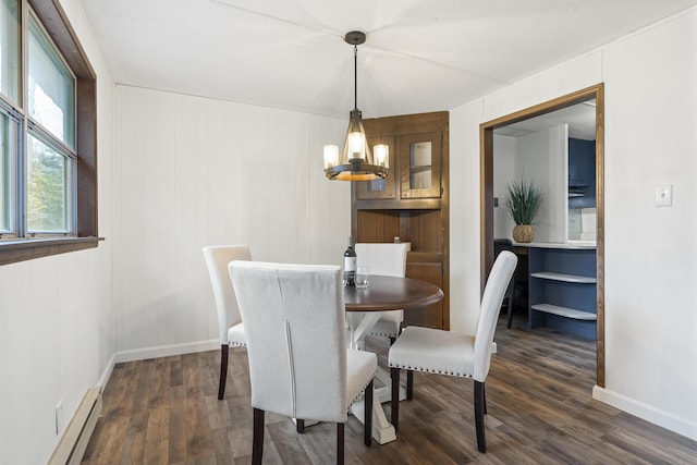
<path fill-rule="evenodd" d="M 400 408 L 398 440 L 363 444 L 346 424 L 347 464 L 696 464 L 697 441 L 591 400 L 595 343 L 501 318 L 487 378 L 488 451 L 477 452 L 473 382 L 416 374 L 414 400 Z M 384 364 L 387 340 L 368 346 Z M 119 364 L 84 464 L 248 464 L 252 408 L 246 352 L 230 353 L 225 400 L 218 401 L 219 352 Z M 389 404 L 383 405 L 389 418 Z M 267 414 L 265 464 L 334 463 L 335 426 L 295 432 Z"/>

